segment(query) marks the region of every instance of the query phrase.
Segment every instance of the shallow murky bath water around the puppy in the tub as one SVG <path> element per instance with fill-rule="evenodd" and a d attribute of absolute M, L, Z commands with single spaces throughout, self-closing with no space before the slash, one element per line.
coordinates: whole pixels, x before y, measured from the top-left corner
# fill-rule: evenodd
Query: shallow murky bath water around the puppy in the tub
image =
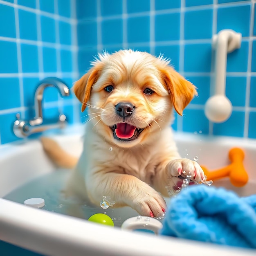
<path fill-rule="evenodd" d="M 42 211 L 52 211 L 86 220 L 95 213 L 105 213 L 112 218 L 116 227 L 120 227 L 124 220 L 139 215 L 130 207 L 102 209 L 100 202 L 97 207 L 88 202 L 81 202 L 77 198 L 66 198 L 63 189 L 69 173 L 70 170 L 57 169 L 20 186 L 4 198 L 20 204 L 24 204 L 24 201 L 29 198 L 43 198 L 45 207 L 41 209 Z"/>

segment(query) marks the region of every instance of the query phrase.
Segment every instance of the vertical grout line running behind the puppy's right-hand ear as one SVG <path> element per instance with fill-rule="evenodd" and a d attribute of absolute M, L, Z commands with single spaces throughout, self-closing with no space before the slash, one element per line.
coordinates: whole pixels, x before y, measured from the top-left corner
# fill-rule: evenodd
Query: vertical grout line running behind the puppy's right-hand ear
<path fill-rule="evenodd" d="M 184 75 L 184 24 L 185 24 L 185 0 L 180 1 L 180 53 L 179 53 L 179 73 Z M 183 116 L 177 115 L 177 130 L 183 130 Z"/>

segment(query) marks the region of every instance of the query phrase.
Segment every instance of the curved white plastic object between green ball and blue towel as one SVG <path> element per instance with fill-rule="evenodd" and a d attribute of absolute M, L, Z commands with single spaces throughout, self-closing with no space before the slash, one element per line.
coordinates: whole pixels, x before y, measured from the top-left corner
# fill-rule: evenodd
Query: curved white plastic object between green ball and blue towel
<path fill-rule="evenodd" d="M 162 223 L 157 219 L 147 216 L 137 216 L 125 220 L 121 226 L 121 229 L 147 229 L 155 232 L 155 234 L 157 235 L 162 227 Z"/>

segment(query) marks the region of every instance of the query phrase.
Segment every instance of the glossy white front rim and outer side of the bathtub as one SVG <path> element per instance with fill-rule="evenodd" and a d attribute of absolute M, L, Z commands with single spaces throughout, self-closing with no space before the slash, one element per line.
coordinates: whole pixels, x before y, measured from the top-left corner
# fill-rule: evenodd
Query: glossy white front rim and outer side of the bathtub
<path fill-rule="evenodd" d="M 255 255 L 253 249 L 124 231 L 91 223 L 88 220 L 28 208 L 5 199 L 0 199 L 0 205 L 1 208 L 7 209 L 5 214 L 0 214 L 0 239 L 46 255 L 79 256 L 85 255 L 85 252 L 88 256 L 166 256 L 166 253 L 170 256 L 185 256 L 188 252 L 197 256 L 206 255 L 206 252 L 207 256 Z M 51 226 L 48 225 L 49 223 Z M 186 245 L 185 250 L 182 249 L 184 245 Z"/>

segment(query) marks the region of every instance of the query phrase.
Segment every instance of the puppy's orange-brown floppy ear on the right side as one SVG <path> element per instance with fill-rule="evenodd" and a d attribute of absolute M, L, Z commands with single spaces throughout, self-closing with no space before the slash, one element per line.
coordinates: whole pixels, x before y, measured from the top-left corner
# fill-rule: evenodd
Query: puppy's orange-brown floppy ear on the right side
<path fill-rule="evenodd" d="M 196 87 L 170 66 L 165 67 L 162 74 L 173 106 L 176 112 L 182 115 L 184 108 L 197 95 Z"/>

